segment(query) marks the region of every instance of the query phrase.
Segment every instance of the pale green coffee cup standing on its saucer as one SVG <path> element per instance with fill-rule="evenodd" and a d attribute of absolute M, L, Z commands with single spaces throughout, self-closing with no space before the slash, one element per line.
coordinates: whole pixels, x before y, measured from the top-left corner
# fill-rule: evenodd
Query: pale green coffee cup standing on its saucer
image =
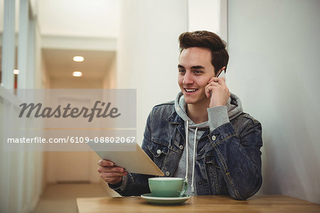
<path fill-rule="evenodd" d="M 149 188 L 154 197 L 182 197 L 188 182 L 183 178 L 149 178 Z"/>

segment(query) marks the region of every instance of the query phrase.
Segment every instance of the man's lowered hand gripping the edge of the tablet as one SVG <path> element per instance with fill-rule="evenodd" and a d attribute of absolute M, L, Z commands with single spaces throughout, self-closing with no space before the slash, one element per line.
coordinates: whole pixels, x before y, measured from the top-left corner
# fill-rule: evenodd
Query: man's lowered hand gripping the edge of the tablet
<path fill-rule="evenodd" d="M 105 182 L 115 185 L 122 181 L 122 176 L 126 176 L 127 172 L 122 167 L 114 166 L 109 160 L 99 160 L 97 171 Z"/>

